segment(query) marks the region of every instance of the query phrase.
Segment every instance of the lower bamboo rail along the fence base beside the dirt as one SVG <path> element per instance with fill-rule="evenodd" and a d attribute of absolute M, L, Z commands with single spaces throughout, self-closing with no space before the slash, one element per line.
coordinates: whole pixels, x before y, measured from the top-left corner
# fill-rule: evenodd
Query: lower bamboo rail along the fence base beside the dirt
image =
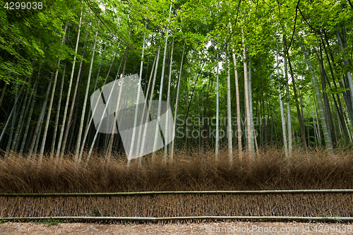
<path fill-rule="evenodd" d="M 184 216 L 184 217 L 80 217 L 80 216 L 58 216 L 58 217 L 4 217 L 0 220 L 28 220 L 28 219 L 109 219 L 109 220 L 183 220 L 183 219 L 285 219 L 285 220 L 316 220 L 316 221 L 353 221 L 353 217 L 294 217 L 294 216 Z"/>

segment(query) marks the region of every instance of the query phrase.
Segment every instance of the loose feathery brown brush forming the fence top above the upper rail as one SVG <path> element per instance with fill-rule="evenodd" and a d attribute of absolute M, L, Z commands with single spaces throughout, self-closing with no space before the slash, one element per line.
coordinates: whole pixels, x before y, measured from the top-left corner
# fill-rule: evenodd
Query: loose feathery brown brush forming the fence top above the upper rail
<path fill-rule="evenodd" d="M 55 166 L 49 156 L 38 164 L 12 155 L 0 160 L 0 193 L 80 193 L 123 191 L 207 191 L 207 190 L 276 190 L 353 188 L 353 151 L 336 150 L 328 157 L 321 150 L 295 152 L 291 160 L 282 150 L 268 149 L 239 160 L 234 154 L 229 165 L 227 151 L 218 162 L 214 152 L 180 150 L 173 164 L 164 164 L 162 152 L 152 162 L 138 159 L 126 167 L 124 156 L 104 159 L 96 152 L 88 167 L 76 167 L 72 155 Z"/>

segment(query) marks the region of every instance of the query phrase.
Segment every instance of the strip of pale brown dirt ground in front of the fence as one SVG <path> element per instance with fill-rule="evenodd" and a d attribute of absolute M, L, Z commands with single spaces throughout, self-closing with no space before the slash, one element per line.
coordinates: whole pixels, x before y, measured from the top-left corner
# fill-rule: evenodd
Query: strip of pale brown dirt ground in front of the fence
<path fill-rule="evenodd" d="M 189 224 L 99 224 L 2 222 L 3 234 L 353 234 L 352 224 L 300 222 L 205 222 Z"/>

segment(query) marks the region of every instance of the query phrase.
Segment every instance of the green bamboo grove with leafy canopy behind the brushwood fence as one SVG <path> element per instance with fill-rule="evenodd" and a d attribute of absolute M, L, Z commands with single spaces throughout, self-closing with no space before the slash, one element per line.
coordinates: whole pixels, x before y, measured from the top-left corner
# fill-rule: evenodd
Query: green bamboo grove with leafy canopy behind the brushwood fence
<path fill-rule="evenodd" d="M 90 95 L 121 75 L 140 74 L 143 59 L 141 85 L 148 97 L 159 48 L 152 97 L 158 100 L 162 90 L 162 100 L 169 99 L 177 119 L 174 147 L 202 152 L 275 145 L 286 152 L 289 147 L 290 154 L 292 146 L 352 145 L 350 0 L 45 1 L 36 10 L 5 4 L 1 1 L 5 158 L 11 152 L 68 151 L 78 157 L 79 149 L 91 145 L 109 155 L 124 152 L 119 133 L 114 138 L 99 133 L 95 140 Z"/>

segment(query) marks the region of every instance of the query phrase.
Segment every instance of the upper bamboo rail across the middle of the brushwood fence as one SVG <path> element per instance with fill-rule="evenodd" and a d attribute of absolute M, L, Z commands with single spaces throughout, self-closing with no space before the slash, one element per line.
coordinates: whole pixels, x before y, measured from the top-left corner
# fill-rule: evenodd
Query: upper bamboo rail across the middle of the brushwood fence
<path fill-rule="evenodd" d="M 52 196 L 118 196 L 118 195 L 156 195 L 156 194 L 285 194 L 285 193 L 353 193 L 353 189 L 306 189 L 272 191 L 148 191 L 120 193 L 0 193 L 0 196 L 52 197 Z"/>

